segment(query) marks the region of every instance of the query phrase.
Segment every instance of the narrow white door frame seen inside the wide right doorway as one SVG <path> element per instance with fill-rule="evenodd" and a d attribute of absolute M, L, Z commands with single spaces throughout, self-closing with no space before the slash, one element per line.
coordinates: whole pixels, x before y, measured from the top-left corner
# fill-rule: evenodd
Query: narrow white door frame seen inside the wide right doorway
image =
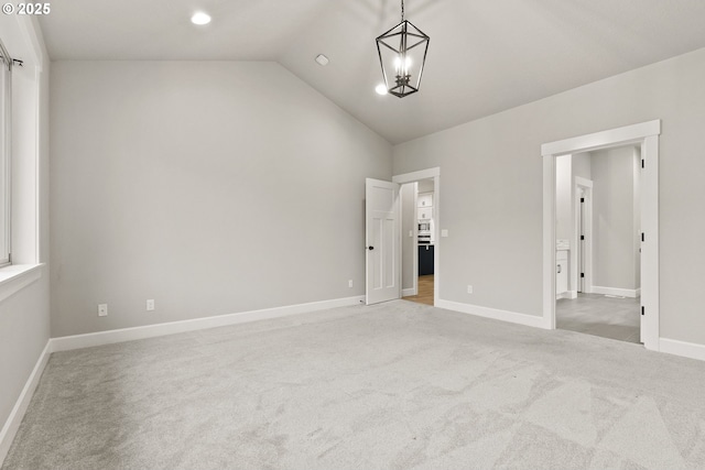
<path fill-rule="evenodd" d="M 582 178 L 579 176 L 575 177 L 575 184 L 573 185 L 573 190 L 575 194 L 575 200 L 573 201 L 573 215 L 574 217 L 574 230 L 573 230 L 573 240 L 571 240 L 572 247 L 577 247 L 581 242 L 581 234 L 578 233 L 578 228 L 581 227 L 581 197 L 578 190 L 583 189 L 585 195 L 585 219 L 587 220 L 586 226 L 583 227 L 585 231 L 585 243 L 583 244 L 583 253 L 584 263 L 583 266 L 585 272 L 585 277 L 583 281 L 583 292 L 592 293 L 593 292 L 593 182 L 586 178 Z M 585 221 L 584 221 L 585 222 Z M 577 260 L 577 250 L 571 250 L 571 298 L 577 297 L 577 283 L 578 283 L 578 260 Z M 573 295 L 575 293 L 575 295 Z"/>

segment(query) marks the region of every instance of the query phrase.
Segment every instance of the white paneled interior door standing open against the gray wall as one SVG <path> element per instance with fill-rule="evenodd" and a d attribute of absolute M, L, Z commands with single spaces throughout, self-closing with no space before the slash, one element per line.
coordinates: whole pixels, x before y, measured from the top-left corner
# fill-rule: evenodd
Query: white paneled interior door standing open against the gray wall
<path fill-rule="evenodd" d="M 366 303 L 401 298 L 399 185 L 365 181 Z"/>

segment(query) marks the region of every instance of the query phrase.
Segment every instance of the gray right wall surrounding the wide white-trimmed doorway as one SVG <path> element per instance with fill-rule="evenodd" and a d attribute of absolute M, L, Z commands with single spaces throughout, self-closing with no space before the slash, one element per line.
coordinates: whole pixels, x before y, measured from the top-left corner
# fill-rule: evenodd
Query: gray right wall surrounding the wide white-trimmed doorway
<path fill-rule="evenodd" d="M 698 50 L 395 145 L 395 174 L 441 167 L 441 298 L 540 316 L 541 144 L 661 119 L 661 336 L 705 343 L 703 76 Z"/>

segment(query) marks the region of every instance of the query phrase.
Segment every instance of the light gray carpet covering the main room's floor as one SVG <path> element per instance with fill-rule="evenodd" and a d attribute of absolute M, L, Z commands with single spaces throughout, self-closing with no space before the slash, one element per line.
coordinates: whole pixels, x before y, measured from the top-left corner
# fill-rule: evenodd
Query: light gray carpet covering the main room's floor
<path fill-rule="evenodd" d="M 705 468 L 705 362 L 404 300 L 52 354 L 3 469 Z"/>

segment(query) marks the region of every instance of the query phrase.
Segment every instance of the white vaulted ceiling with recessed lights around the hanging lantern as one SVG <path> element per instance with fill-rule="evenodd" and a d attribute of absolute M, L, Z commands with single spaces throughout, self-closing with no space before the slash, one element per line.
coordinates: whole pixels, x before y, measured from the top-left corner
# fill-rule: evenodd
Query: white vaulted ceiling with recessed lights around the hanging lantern
<path fill-rule="evenodd" d="M 378 96 L 391 0 L 64 0 L 52 59 L 276 61 L 391 143 L 705 47 L 703 0 L 405 0 L 431 36 L 421 91 Z M 195 10 L 213 15 L 195 26 Z M 321 67 L 317 54 L 330 63 Z"/>

